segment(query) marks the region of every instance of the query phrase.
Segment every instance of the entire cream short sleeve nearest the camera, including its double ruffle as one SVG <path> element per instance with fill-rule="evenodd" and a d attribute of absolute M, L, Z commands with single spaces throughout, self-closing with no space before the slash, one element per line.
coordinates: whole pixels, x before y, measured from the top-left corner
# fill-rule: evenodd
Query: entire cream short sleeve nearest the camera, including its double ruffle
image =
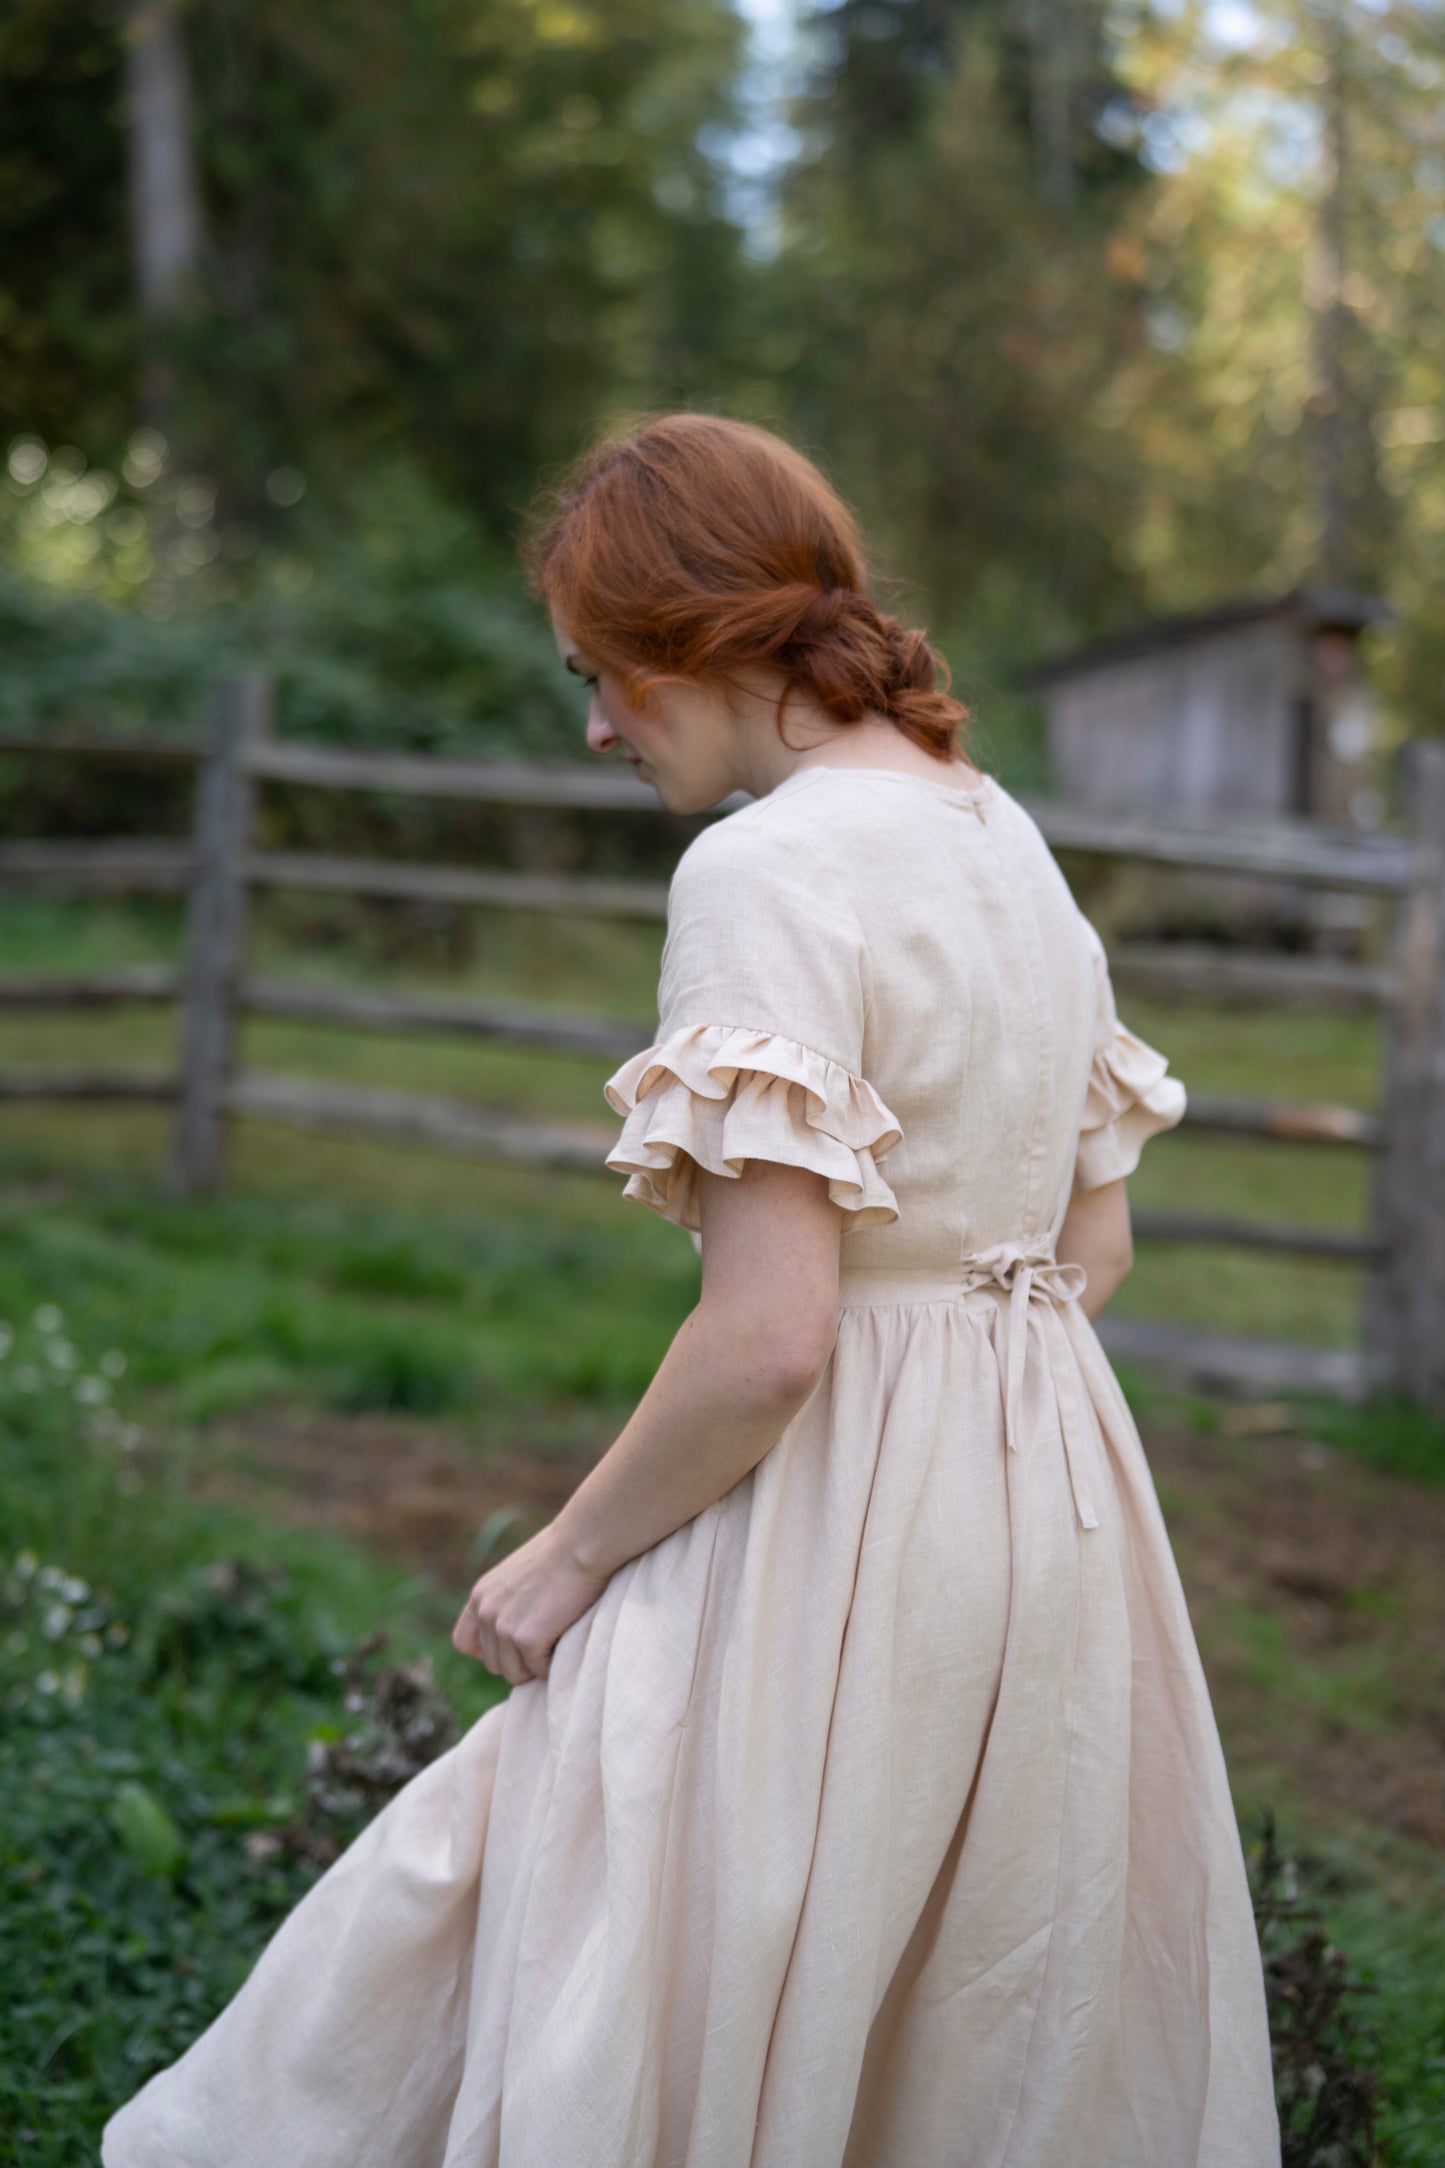
<path fill-rule="evenodd" d="M 858 913 L 817 850 L 750 809 L 689 843 L 667 895 L 659 1036 L 602 1086 L 624 1197 L 700 1234 L 698 1173 L 810 1166 L 843 1234 L 899 1216 L 880 1160 L 901 1127 L 862 1073 Z"/>

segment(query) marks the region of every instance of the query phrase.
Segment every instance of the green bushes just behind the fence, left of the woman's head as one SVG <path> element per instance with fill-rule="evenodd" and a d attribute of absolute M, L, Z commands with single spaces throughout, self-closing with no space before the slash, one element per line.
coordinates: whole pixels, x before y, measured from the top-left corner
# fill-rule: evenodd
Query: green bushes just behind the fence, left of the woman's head
<path fill-rule="evenodd" d="M 581 718 L 546 620 L 416 470 L 373 468 L 340 533 L 297 509 L 284 546 L 245 559 L 204 492 L 199 525 L 175 529 L 193 477 L 160 464 L 110 496 L 110 470 L 69 460 L 56 477 L 39 440 L 26 449 L 32 479 L 0 479 L 0 544 L 37 575 L 0 570 L 0 722 L 195 733 L 217 676 L 266 670 L 279 726 L 308 739 L 576 754 Z M 119 540 L 117 520 L 134 520 Z M 219 555 L 191 566 L 197 538 Z M 65 557 L 76 540 L 93 555 Z"/>

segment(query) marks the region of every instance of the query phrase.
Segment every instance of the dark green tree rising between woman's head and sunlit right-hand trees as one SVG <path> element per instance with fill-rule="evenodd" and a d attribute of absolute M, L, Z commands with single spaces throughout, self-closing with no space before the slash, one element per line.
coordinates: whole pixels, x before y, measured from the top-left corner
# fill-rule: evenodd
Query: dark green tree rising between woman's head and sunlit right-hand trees
<path fill-rule="evenodd" d="M 1140 338 L 1111 236 L 1140 186 L 1103 9 L 845 0 L 810 17 L 778 317 L 791 405 L 938 611 L 999 566 L 1090 620 L 1129 462 L 1092 423 Z"/>

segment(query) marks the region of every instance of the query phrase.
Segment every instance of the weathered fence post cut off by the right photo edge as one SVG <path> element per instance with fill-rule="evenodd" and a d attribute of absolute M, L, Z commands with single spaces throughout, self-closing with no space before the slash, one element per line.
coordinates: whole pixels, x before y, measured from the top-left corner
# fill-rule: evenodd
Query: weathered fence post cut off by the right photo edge
<path fill-rule="evenodd" d="M 1415 878 L 1400 900 L 1384 1045 L 1384 1149 L 1365 1299 L 1378 1383 L 1445 1416 L 1445 744 L 1408 748 Z"/>

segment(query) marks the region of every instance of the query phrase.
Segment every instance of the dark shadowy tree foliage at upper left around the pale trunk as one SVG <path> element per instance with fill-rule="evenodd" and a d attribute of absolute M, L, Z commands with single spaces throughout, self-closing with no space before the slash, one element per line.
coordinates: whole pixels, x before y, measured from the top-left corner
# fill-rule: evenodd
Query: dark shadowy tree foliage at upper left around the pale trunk
<path fill-rule="evenodd" d="M 702 150 L 732 119 L 721 0 L 195 0 L 182 30 L 206 258 L 152 366 L 232 514 L 403 447 L 500 533 L 600 401 L 708 382 L 739 262 Z M 19 0 L 0 35 L 0 434 L 91 455 L 145 351 L 119 52 L 100 7 Z"/>

